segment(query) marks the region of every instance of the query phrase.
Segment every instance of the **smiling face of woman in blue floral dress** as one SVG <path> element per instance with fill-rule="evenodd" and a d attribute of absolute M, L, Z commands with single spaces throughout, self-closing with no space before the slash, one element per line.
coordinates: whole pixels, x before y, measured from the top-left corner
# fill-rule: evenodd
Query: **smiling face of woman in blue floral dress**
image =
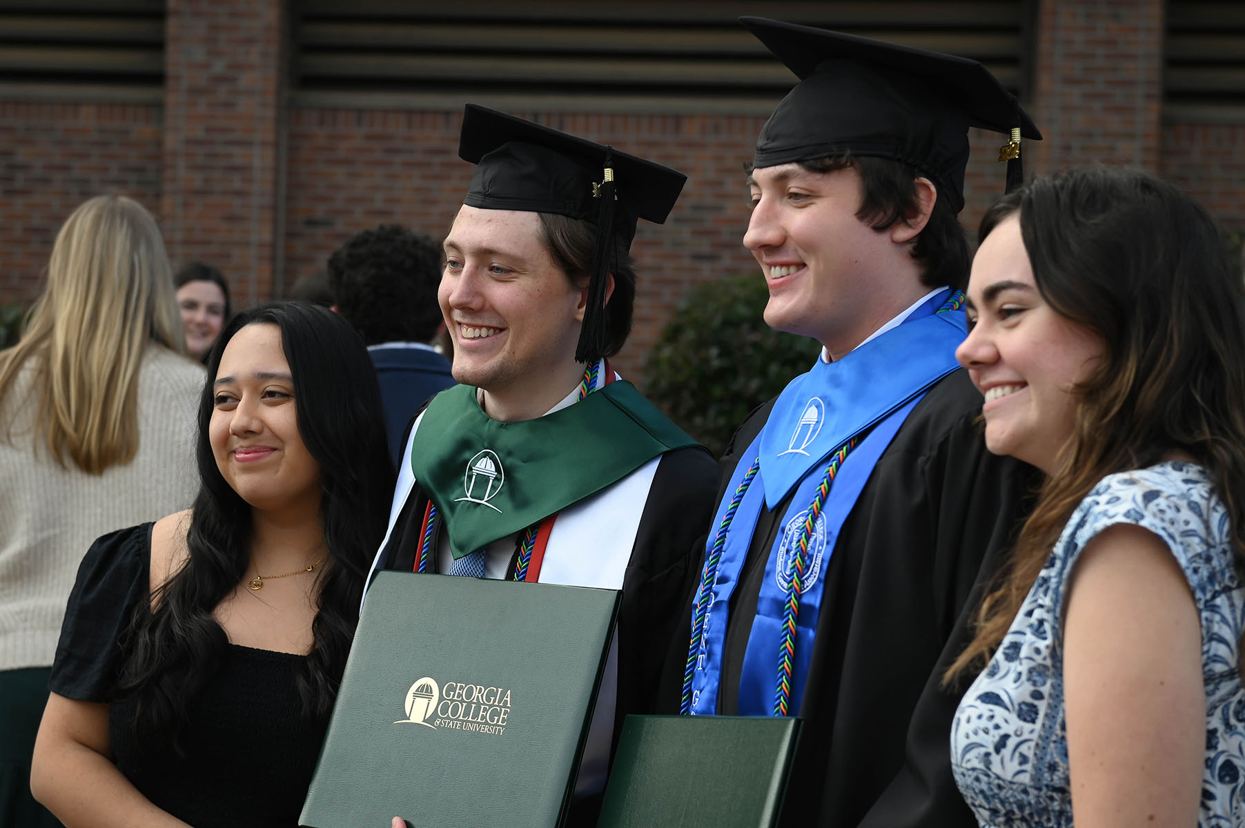
<path fill-rule="evenodd" d="M 1104 344 L 1042 299 L 1017 214 L 972 259 L 967 316 L 969 336 L 955 356 L 985 396 L 986 447 L 1053 473 L 1073 433 L 1077 386 Z"/>

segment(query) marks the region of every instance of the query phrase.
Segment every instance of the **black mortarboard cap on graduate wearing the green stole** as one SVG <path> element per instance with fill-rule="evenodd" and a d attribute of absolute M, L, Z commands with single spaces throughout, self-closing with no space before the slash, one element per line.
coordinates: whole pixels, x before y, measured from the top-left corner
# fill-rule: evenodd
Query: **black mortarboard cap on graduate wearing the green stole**
<path fill-rule="evenodd" d="M 676 169 L 474 103 L 463 113 L 458 156 L 476 164 L 463 203 L 557 213 L 596 224 L 588 309 L 575 359 L 604 349 L 606 275 L 629 250 L 639 219 L 661 224 L 687 177 Z"/>

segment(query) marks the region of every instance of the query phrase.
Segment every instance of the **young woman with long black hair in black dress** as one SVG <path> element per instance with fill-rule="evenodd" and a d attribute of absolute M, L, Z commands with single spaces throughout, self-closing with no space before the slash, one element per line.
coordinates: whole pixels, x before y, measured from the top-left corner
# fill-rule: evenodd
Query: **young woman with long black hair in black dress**
<path fill-rule="evenodd" d="M 75 826 L 295 826 L 393 469 L 362 341 L 304 304 L 208 362 L 193 509 L 102 537 L 70 598 L 31 787 Z"/>

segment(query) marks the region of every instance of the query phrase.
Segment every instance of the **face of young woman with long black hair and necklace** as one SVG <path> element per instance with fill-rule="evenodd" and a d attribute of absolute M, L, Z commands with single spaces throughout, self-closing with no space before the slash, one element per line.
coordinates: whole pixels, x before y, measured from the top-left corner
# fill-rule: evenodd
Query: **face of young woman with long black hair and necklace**
<path fill-rule="evenodd" d="M 208 441 L 229 487 L 256 509 L 320 501 L 320 464 L 298 425 L 281 329 L 254 324 L 225 345 L 213 385 Z"/>

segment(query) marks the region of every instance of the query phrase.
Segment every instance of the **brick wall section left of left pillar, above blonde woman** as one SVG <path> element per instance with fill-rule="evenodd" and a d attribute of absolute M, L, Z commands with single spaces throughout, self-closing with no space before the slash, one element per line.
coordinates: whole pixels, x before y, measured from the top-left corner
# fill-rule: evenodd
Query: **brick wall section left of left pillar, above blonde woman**
<path fill-rule="evenodd" d="M 158 213 L 156 106 L 0 101 L 0 301 L 29 301 L 61 224 L 78 204 L 118 193 Z"/>

